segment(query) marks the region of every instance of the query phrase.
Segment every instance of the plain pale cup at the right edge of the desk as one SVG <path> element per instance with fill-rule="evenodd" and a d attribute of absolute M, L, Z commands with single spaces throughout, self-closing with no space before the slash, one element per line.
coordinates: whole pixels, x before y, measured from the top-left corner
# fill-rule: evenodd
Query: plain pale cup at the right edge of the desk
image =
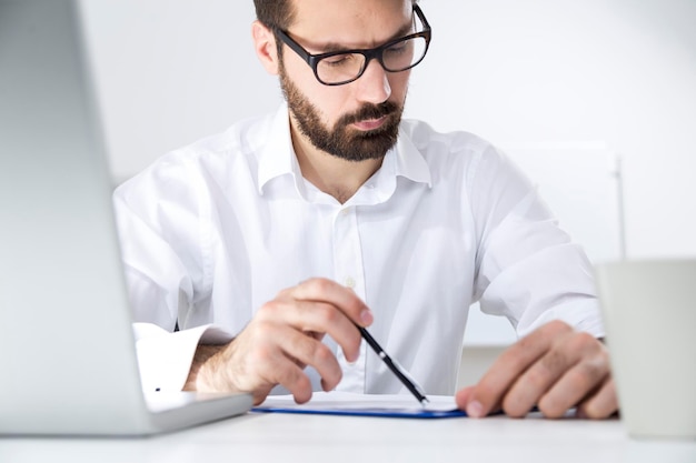
<path fill-rule="evenodd" d="M 696 439 L 696 260 L 595 265 L 632 437 Z"/>

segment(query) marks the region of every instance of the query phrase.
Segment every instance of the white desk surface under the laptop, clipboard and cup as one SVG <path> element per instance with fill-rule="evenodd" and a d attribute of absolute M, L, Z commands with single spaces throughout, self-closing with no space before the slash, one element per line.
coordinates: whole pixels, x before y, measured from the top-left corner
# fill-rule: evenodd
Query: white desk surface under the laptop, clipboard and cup
<path fill-rule="evenodd" d="M 146 439 L 1 439 L 0 462 L 696 462 L 696 442 L 635 441 L 618 420 L 249 413 Z"/>

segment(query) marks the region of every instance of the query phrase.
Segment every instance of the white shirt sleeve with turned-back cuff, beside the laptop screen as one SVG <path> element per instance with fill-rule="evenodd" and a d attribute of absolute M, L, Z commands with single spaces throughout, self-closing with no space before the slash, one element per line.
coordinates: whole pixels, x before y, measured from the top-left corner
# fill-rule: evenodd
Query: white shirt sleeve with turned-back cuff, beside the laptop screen
<path fill-rule="evenodd" d="M 163 163 L 119 187 L 113 205 L 121 242 L 142 387 L 180 391 L 199 343 L 231 335 L 210 324 L 186 329 L 203 265 L 196 249 L 196 194 L 185 190 L 186 169 Z M 175 331 L 177 326 L 181 331 Z"/>

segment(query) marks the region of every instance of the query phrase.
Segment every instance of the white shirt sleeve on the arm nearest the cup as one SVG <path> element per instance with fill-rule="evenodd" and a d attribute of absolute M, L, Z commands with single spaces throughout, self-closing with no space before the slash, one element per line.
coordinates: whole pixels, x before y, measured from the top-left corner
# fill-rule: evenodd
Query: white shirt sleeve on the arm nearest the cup
<path fill-rule="evenodd" d="M 470 194 L 481 311 L 508 318 L 519 336 L 551 320 L 603 336 L 591 264 L 521 171 L 488 148 Z"/>

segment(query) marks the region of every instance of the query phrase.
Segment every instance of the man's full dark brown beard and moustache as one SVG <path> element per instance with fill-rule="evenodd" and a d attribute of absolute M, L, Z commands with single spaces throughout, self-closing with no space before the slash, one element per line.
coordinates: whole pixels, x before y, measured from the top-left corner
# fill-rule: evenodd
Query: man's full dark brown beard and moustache
<path fill-rule="evenodd" d="M 310 143 L 329 154 L 347 161 L 382 159 L 397 141 L 404 107 L 391 101 L 379 104 L 364 104 L 357 111 L 344 114 L 327 128 L 321 122 L 319 110 L 305 97 L 280 67 L 280 88 L 288 102 L 288 109 L 297 121 L 298 129 Z M 375 130 L 357 130 L 350 124 L 364 120 L 386 117 Z"/>

